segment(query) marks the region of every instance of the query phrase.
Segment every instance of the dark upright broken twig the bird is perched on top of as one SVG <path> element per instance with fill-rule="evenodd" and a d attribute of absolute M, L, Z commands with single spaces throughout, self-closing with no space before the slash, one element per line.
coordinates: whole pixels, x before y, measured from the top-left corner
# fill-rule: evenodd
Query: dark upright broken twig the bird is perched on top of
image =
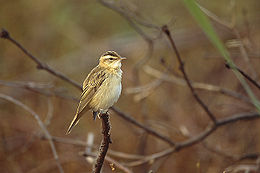
<path fill-rule="evenodd" d="M 109 132 L 110 131 L 109 115 L 105 113 L 102 114 L 100 118 L 102 120 L 103 140 L 99 148 L 99 154 L 93 168 L 93 173 L 100 173 L 103 162 L 107 154 L 107 150 L 109 148 L 109 144 L 112 143 L 110 139 L 110 132 Z"/>

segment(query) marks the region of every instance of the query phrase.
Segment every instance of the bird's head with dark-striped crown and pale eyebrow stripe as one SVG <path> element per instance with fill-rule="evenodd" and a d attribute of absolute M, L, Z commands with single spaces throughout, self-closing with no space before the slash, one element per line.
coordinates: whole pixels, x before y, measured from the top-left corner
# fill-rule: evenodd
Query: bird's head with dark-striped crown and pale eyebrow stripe
<path fill-rule="evenodd" d="M 121 61 L 126 59 L 121 57 L 115 51 L 107 51 L 99 59 L 99 65 L 105 68 L 118 69 L 121 67 Z"/>

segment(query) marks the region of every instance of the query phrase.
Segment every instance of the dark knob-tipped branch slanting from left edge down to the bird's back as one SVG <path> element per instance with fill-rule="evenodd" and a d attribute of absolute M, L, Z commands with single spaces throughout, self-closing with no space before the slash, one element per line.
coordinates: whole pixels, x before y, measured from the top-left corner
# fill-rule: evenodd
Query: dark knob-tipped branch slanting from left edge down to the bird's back
<path fill-rule="evenodd" d="M 26 54 L 31 60 L 33 60 L 37 64 L 37 68 L 40 70 L 46 70 L 49 73 L 53 74 L 54 76 L 57 76 L 58 78 L 69 82 L 70 84 L 74 85 L 75 87 L 81 89 L 81 86 L 75 82 L 74 80 L 68 78 L 63 73 L 58 72 L 51 68 L 49 65 L 45 64 L 44 62 L 40 61 L 38 58 L 33 56 L 29 51 L 27 51 L 20 43 L 18 43 L 15 39 L 13 39 L 7 30 L 2 29 L 2 32 L 0 33 L 0 37 L 9 40 L 14 45 L 16 45 L 21 51 L 23 51 L 24 54 Z"/>

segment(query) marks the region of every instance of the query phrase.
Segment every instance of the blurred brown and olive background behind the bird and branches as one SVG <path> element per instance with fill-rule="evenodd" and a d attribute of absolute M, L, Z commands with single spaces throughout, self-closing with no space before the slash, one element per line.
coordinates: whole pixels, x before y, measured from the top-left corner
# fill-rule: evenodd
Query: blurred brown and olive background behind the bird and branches
<path fill-rule="evenodd" d="M 234 62 L 258 80 L 259 0 L 198 3 L 210 17 Z M 175 54 L 160 30 L 165 24 L 189 78 L 198 85 L 198 95 L 217 119 L 255 111 L 240 83 L 225 67 L 223 58 L 181 0 L 0 0 L 0 4 L 0 27 L 34 56 L 79 84 L 105 51 L 115 50 L 127 57 L 122 66 L 123 91 L 115 106 L 172 141 L 185 141 L 198 135 L 210 119 L 182 79 Z M 251 88 L 259 98 L 259 90 Z M 228 94 L 221 93 L 223 89 Z M 232 92 L 235 96 L 231 96 Z M 99 146 L 101 121 L 93 121 L 88 112 L 72 133 L 65 135 L 80 90 L 37 69 L 21 50 L 1 39 L 0 93 L 19 100 L 39 115 L 56 139 L 54 144 L 64 172 L 91 172 L 93 158 L 82 153 L 97 151 L 84 145 L 92 134 L 93 145 Z M 132 172 L 217 173 L 232 170 L 234 166 L 255 165 L 254 158 L 243 161 L 236 158 L 260 152 L 260 122 L 250 120 L 220 127 L 200 144 L 174 154 L 131 165 L 138 157 L 163 151 L 169 145 L 112 110 L 110 115 L 113 141 L 110 149 L 135 158 L 111 153 L 108 156 Z M 50 145 L 31 114 L 0 99 L 0 117 L 1 172 L 58 172 Z M 126 171 L 108 161 L 103 172 Z"/>

